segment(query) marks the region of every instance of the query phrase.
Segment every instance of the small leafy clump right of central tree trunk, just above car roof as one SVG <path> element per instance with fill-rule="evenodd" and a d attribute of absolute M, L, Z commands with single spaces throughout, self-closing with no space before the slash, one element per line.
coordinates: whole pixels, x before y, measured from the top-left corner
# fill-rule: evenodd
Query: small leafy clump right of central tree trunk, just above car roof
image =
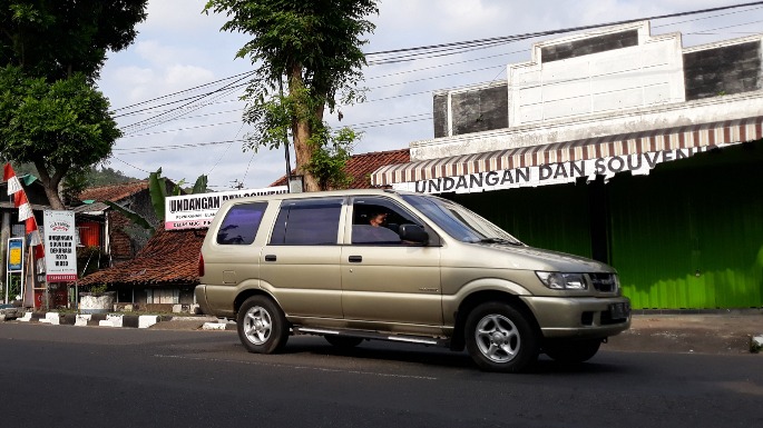
<path fill-rule="evenodd" d="M 346 173 L 344 167 L 359 138 L 355 131 L 346 127 L 335 133 L 329 128 L 321 128 L 313 133 L 313 157 L 305 169 L 315 177 L 321 190 L 346 189 L 350 186 L 353 177 Z"/>

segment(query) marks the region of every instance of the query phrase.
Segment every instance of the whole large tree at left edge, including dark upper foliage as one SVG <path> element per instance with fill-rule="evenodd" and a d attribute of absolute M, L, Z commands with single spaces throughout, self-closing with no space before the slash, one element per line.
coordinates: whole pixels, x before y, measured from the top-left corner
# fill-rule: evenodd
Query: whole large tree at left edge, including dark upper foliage
<path fill-rule="evenodd" d="M 67 175 L 121 136 L 95 89 L 108 51 L 135 39 L 148 0 L 7 0 L 0 6 L 0 153 L 33 162 L 55 209 Z"/>

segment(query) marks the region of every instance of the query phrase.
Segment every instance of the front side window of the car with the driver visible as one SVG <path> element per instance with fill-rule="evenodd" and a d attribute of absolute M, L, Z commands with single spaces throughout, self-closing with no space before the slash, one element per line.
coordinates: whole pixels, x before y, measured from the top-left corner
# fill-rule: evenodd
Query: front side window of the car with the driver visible
<path fill-rule="evenodd" d="M 412 245 L 400 239 L 400 226 L 420 223 L 412 215 L 388 199 L 353 199 L 351 239 L 354 245 Z"/>

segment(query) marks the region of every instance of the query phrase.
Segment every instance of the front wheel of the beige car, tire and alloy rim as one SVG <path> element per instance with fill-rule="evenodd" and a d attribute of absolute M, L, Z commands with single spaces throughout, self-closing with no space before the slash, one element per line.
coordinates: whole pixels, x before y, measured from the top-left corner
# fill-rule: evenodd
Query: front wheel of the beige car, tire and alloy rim
<path fill-rule="evenodd" d="M 538 359 L 537 329 L 510 305 L 479 305 L 467 317 L 464 328 L 469 356 L 482 370 L 520 372 Z"/>

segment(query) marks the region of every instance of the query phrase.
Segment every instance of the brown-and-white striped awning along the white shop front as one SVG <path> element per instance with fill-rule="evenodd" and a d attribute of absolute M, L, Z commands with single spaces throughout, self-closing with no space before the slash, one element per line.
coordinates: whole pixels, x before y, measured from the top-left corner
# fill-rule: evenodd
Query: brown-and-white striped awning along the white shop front
<path fill-rule="evenodd" d="M 761 139 L 763 138 L 762 128 L 763 116 L 759 116 L 740 120 L 388 165 L 371 175 L 371 185 L 383 187 L 616 156 L 710 148 Z"/>

